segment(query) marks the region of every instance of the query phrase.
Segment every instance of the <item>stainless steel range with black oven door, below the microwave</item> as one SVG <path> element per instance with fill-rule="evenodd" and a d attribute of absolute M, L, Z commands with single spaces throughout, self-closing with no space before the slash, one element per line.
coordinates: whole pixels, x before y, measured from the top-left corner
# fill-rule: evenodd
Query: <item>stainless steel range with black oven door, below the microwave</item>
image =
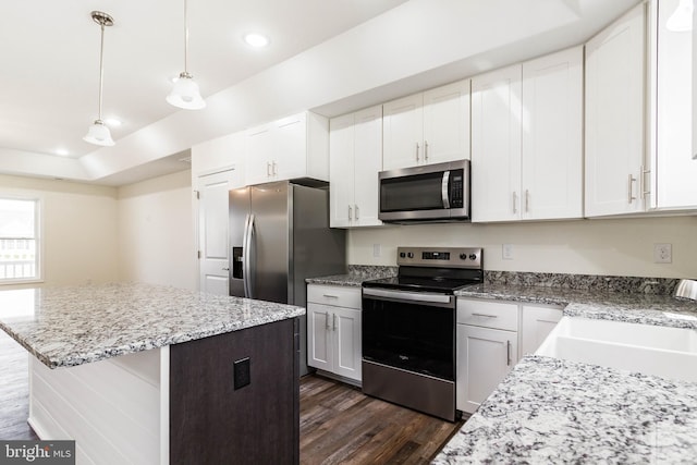
<path fill-rule="evenodd" d="M 363 392 L 453 421 L 454 293 L 484 281 L 482 249 L 399 247 L 396 262 L 363 283 Z"/>

